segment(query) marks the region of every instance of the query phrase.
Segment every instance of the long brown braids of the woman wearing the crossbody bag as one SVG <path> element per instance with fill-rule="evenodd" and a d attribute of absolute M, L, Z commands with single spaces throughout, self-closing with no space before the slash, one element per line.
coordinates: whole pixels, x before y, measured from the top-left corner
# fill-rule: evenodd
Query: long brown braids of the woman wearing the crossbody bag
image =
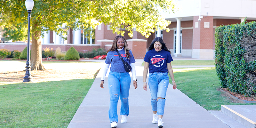
<path fill-rule="evenodd" d="M 124 36 L 121 36 L 121 35 L 116 36 L 116 38 L 113 40 L 112 47 L 111 47 L 110 49 L 108 49 L 107 53 L 108 53 L 109 51 L 116 51 L 116 43 L 117 43 L 117 41 L 118 41 L 120 38 L 122 38 L 122 39 L 124 40 L 124 52 L 125 52 L 125 56 L 126 56 L 126 58 L 129 58 L 129 57 L 131 56 L 131 54 L 130 54 L 130 52 L 129 52 L 131 49 L 128 48 L 128 44 L 127 44 L 127 42 L 126 42 L 126 39 L 124 38 Z"/>

